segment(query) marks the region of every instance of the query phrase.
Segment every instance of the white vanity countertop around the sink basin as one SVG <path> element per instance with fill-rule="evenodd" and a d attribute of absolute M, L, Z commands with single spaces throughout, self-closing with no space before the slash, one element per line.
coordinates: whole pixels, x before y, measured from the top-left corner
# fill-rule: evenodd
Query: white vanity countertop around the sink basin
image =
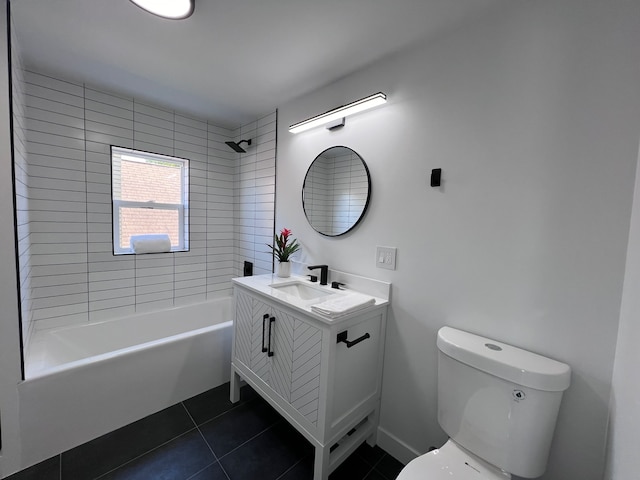
<path fill-rule="evenodd" d="M 343 320 L 352 318 L 356 315 L 361 315 L 362 313 L 365 313 L 371 310 L 376 310 L 380 307 L 388 305 L 389 303 L 389 300 L 385 298 L 377 297 L 375 295 L 370 295 L 372 298 L 375 299 L 375 304 L 369 307 L 366 307 L 362 310 L 358 310 L 357 312 L 353 312 L 351 314 L 340 317 L 339 319 L 331 319 L 329 317 L 320 315 L 314 312 L 313 310 L 311 310 L 311 305 L 317 305 L 331 298 L 335 298 L 336 296 L 348 295 L 351 292 L 358 292 L 365 295 L 368 295 L 368 293 L 361 290 L 351 290 L 348 287 L 342 287 L 340 290 L 337 290 L 335 288 L 331 288 L 330 285 L 320 285 L 319 282 L 311 282 L 309 278 L 298 276 L 298 275 L 292 275 L 287 278 L 281 278 L 275 274 L 255 275 L 251 277 L 234 278 L 233 282 L 236 285 L 241 285 L 256 293 L 260 293 L 265 297 L 267 297 L 268 299 L 274 300 L 282 305 L 298 310 L 304 313 L 305 315 L 311 316 L 321 322 L 328 323 L 328 324 L 340 323 Z M 308 284 L 313 288 L 326 291 L 327 293 L 329 293 L 329 295 L 326 295 L 320 298 L 311 299 L 311 300 L 304 300 L 296 296 L 284 293 L 283 291 L 277 288 L 273 288 L 274 285 L 283 285 L 283 284 L 292 283 L 292 282 L 300 282 L 303 284 Z"/>

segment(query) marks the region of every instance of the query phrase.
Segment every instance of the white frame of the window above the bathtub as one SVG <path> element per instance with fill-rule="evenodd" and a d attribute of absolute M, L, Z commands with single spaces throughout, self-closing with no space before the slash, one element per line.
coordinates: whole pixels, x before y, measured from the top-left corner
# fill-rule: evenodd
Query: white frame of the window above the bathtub
<path fill-rule="evenodd" d="M 122 156 L 130 156 L 140 158 L 143 163 L 145 160 L 160 160 L 166 162 L 173 162 L 180 164 L 180 196 L 182 197 L 182 203 L 158 203 L 154 201 L 131 201 L 131 200 L 116 200 L 114 195 L 114 152 L 120 155 L 119 161 L 122 161 Z M 148 152 L 144 150 L 137 150 L 133 148 L 120 147 L 117 145 L 111 145 L 111 225 L 112 225 L 112 247 L 113 255 L 136 255 L 133 249 L 122 248 L 120 246 L 120 209 L 121 208 L 136 208 L 136 209 L 151 209 L 151 210 L 165 210 L 165 211 L 177 211 L 178 212 L 178 245 L 171 245 L 170 253 L 174 252 L 188 252 L 189 251 L 189 165 L 190 160 L 184 157 L 177 157 L 173 155 L 163 155 L 155 152 Z M 122 184 L 122 177 L 120 176 L 120 185 Z M 147 232 L 155 233 L 155 232 Z M 169 252 L 165 252 L 169 253 Z"/>

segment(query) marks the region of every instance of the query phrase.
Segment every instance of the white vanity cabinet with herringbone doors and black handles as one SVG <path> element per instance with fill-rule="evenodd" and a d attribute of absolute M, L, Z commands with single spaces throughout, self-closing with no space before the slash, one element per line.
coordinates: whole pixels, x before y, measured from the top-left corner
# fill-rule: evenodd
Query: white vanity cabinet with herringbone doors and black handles
<path fill-rule="evenodd" d="M 314 445 L 314 480 L 326 480 L 364 440 L 375 444 L 387 301 L 329 320 L 242 282 L 234 280 L 231 401 L 241 380 L 251 385 Z"/>

